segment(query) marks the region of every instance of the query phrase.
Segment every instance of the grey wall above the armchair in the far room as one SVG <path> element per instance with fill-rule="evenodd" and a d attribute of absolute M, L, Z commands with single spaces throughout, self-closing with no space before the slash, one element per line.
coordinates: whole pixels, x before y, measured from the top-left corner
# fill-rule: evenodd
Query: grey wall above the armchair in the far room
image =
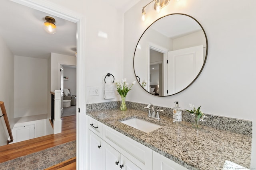
<path fill-rule="evenodd" d="M 69 88 L 72 95 L 76 95 L 76 68 L 69 68 L 63 66 L 64 76 L 68 77 L 68 80 L 64 80 L 64 88 Z"/>

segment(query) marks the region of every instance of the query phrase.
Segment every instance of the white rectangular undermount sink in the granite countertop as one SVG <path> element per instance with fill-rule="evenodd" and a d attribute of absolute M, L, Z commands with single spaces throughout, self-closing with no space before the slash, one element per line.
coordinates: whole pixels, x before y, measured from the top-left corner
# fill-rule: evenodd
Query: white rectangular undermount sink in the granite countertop
<path fill-rule="evenodd" d="M 126 125 L 129 125 L 131 127 L 134 127 L 140 131 L 144 131 L 146 133 L 150 133 L 156 129 L 159 129 L 160 125 L 156 125 L 154 123 L 150 123 L 148 121 L 144 121 L 144 120 L 141 120 L 141 119 L 138 119 L 138 118 L 132 118 L 132 119 L 128 119 L 128 120 L 124 120 L 124 121 L 121 121 L 121 123 L 124 123 Z"/>

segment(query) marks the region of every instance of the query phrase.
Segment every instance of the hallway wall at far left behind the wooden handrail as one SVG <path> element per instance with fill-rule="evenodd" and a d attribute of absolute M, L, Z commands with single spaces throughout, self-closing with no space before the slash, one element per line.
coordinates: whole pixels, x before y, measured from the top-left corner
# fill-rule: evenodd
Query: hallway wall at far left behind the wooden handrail
<path fill-rule="evenodd" d="M 2 37 L 0 37 L 0 101 L 4 102 L 12 129 L 14 126 L 14 55 Z M 0 115 L 2 115 L 1 109 Z M 0 146 L 7 144 L 8 137 L 4 117 L 1 117 Z"/>

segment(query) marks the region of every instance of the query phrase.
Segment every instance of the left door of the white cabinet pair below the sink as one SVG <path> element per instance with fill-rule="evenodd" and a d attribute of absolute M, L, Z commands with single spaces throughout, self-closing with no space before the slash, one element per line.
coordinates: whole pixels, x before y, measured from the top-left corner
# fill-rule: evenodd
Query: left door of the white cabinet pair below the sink
<path fill-rule="evenodd" d="M 120 170 L 121 154 L 116 149 L 108 145 L 105 141 L 102 143 L 103 149 L 103 170 Z"/>

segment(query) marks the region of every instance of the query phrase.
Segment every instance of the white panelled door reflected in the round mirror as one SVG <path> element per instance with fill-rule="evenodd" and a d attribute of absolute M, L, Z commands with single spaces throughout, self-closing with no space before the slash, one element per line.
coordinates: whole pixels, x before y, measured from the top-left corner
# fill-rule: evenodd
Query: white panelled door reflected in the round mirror
<path fill-rule="evenodd" d="M 196 78 L 203 53 L 202 45 L 168 52 L 168 94 L 180 92 Z"/>

